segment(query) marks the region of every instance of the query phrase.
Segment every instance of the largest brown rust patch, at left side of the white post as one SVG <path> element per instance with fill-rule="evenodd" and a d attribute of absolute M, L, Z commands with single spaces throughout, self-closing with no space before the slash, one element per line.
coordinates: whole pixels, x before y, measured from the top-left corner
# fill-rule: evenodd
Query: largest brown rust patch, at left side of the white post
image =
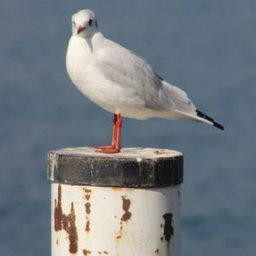
<path fill-rule="evenodd" d="M 75 226 L 75 208 L 74 203 L 71 202 L 71 209 L 69 215 L 62 213 L 62 186 L 58 186 L 58 198 L 55 200 L 55 230 L 61 231 L 62 229 L 69 234 L 69 253 L 77 253 L 77 231 Z M 56 241 L 58 244 L 58 240 Z"/>

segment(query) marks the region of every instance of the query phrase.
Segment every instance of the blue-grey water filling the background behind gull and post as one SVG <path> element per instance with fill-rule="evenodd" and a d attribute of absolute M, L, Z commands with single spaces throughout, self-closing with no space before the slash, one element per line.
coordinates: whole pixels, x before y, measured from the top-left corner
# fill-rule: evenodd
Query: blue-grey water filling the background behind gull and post
<path fill-rule="evenodd" d="M 47 152 L 110 140 L 111 114 L 65 70 L 82 8 L 226 127 L 124 120 L 124 147 L 185 156 L 182 256 L 255 255 L 255 0 L 1 0 L 0 254 L 50 254 Z"/>

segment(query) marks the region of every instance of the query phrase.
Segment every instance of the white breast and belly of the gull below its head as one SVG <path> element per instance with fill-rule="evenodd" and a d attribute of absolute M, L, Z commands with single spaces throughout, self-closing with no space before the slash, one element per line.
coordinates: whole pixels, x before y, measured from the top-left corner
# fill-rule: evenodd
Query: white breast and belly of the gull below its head
<path fill-rule="evenodd" d="M 109 112 L 141 119 L 142 109 L 138 112 L 138 99 L 133 96 L 134 92 L 129 92 L 127 88 L 124 93 L 120 84 L 106 79 L 95 62 L 95 55 L 87 42 L 71 37 L 66 64 L 69 77 L 77 89 Z"/>

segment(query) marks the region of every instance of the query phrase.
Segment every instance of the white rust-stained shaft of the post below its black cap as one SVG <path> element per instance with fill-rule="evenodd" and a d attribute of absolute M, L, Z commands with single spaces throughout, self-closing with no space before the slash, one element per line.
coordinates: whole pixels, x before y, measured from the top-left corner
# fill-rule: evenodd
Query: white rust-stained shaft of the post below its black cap
<path fill-rule="evenodd" d="M 180 186 L 52 183 L 52 256 L 180 256 Z"/>

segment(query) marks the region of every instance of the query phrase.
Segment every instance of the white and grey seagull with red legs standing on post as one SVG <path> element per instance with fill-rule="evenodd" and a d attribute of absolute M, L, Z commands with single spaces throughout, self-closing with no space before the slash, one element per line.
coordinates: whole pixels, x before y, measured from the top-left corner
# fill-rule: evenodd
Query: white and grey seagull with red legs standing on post
<path fill-rule="evenodd" d="M 111 145 L 93 147 L 97 152 L 121 151 L 122 116 L 203 121 L 224 130 L 200 112 L 186 92 L 157 75 L 141 56 L 103 36 L 92 10 L 79 10 L 71 21 L 66 56 L 69 77 L 90 101 L 114 115 Z"/>

